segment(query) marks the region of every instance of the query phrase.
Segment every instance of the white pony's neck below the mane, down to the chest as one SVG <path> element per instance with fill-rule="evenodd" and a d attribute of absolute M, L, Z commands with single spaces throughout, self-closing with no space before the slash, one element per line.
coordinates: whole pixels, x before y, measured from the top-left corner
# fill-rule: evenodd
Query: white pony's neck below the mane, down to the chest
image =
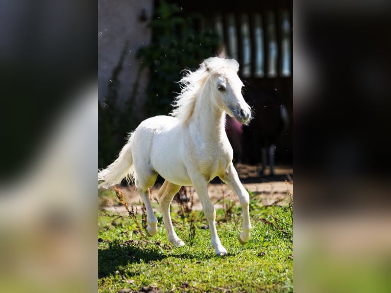
<path fill-rule="evenodd" d="M 213 104 L 206 90 L 197 97 L 189 127 L 205 139 L 216 140 L 227 136 L 225 112 Z"/>

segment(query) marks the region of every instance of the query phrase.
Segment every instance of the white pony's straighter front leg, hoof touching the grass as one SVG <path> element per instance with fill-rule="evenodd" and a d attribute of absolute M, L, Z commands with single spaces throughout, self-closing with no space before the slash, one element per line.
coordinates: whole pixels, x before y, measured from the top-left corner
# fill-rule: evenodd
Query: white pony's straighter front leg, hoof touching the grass
<path fill-rule="evenodd" d="M 201 175 L 190 176 L 191 182 L 193 183 L 195 192 L 197 192 L 198 198 L 201 201 L 202 208 L 205 214 L 205 217 L 209 224 L 211 243 L 214 247 L 216 255 L 226 255 L 227 250 L 222 246 L 220 238 L 218 238 L 216 230 L 216 210 L 209 198 L 208 194 L 208 182 Z"/>

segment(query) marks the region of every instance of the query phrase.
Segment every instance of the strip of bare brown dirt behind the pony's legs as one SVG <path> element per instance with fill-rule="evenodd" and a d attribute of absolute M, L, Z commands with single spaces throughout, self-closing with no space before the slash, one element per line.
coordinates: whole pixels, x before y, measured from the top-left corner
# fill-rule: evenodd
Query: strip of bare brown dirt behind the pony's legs
<path fill-rule="evenodd" d="M 291 167 L 276 166 L 274 175 L 269 175 L 270 171 L 266 169 L 266 175 L 262 176 L 259 175 L 259 166 L 237 164 L 235 167 L 243 186 L 255 194 L 253 199 L 259 200 L 263 205 L 287 205 L 289 203 L 290 199 L 288 192 L 293 194 L 293 169 Z M 152 200 L 154 203 L 157 203 L 156 195 L 161 184 L 162 182 L 156 183 L 151 188 Z M 134 185 L 117 185 L 117 187 L 124 192 L 128 204 L 136 206 L 138 212 L 140 212 L 140 196 L 138 191 L 135 190 Z M 202 210 L 201 202 L 197 197 L 197 192 L 195 192 L 194 187 L 186 186 L 186 190 L 187 196 L 193 194 L 193 209 Z M 219 178 L 215 178 L 209 183 L 208 192 L 215 208 L 222 208 L 222 199 L 231 200 L 239 205 L 237 196 L 225 183 L 221 182 Z M 100 199 L 99 205 L 102 210 L 127 214 L 125 207 L 118 204 L 115 200 L 104 197 L 103 199 Z M 154 206 L 156 207 L 155 211 L 158 211 L 158 205 Z M 178 203 L 175 200 L 173 200 L 172 207 L 178 207 Z"/>

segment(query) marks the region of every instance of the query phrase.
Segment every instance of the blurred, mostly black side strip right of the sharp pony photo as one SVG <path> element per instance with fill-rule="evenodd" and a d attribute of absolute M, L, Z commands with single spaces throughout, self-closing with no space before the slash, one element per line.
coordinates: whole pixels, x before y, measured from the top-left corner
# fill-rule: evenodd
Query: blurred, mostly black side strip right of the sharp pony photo
<path fill-rule="evenodd" d="M 386 1 L 295 2 L 298 292 L 391 285 L 390 12 Z"/>

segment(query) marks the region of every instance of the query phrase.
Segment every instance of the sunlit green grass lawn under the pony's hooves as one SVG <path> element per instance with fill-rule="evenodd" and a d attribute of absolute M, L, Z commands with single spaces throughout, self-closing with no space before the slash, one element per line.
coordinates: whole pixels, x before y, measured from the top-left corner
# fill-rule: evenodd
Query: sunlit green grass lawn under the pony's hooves
<path fill-rule="evenodd" d="M 148 238 L 134 218 L 99 212 L 99 292 L 292 292 L 292 208 L 264 207 L 250 196 L 253 230 L 245 246 L 238 241 L 240 206 L 216 211 L 224 257 L 214 255 L 202 211 L 173 208 L 177 234 L 186 242 L 181 248 L 168 242 L 159 213 L 159 231 Z"/>

